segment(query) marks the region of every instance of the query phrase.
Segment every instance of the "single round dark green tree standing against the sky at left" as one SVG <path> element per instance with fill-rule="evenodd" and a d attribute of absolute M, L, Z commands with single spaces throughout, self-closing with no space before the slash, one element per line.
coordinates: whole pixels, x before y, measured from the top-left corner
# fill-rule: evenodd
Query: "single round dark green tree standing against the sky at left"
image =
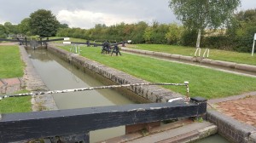
<path fill-rule="evenodd" d="M 32 33 L 40 37 L 55 36 L 60 22 L 50 10 L 39 9 L 30 14 Z"/>

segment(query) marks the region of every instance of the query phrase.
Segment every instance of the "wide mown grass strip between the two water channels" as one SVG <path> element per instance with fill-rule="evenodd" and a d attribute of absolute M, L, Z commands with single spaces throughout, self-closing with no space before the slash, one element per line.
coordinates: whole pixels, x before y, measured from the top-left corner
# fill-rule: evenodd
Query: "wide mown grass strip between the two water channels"
<path fill-rule="evenodd" d="M 69 51 L 70 46 L 61 47 Z M 82 47 L 81 55 L 152 83 L 183 83 L 189 81 L 190 95 L 207 99 L 256 91 L 256 78 L 218 72 L 165 60 L 122 53 L 122 56 L 100 54 L 101 48 Z M 183 87 L 166 89 L 185 94 Z"/>

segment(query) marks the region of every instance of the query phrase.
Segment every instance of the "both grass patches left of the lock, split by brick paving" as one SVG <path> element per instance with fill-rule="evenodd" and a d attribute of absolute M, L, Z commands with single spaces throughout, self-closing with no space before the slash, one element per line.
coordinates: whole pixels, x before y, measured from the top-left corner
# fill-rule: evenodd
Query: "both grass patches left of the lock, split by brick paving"
<path fill-rule="evenodd" d="M 24 63 L 18 46 L 0 46 L 0 78 L 22 77 Z M 25 93 L 26 90 L 18 93 Z M 30 96 L 0 100 L 0 113 L 31 112 Z"/>

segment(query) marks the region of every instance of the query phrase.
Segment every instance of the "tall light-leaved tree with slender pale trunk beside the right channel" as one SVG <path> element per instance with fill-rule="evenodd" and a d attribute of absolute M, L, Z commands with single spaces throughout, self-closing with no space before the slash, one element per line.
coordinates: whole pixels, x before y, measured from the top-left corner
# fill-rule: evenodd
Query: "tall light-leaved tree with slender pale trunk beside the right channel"
<path fill-rule="evenodd" d="M 201 31 L 222 26 L 240 3 L 240 0 L 170 0 L 169 7 L 185 27 L 198 31 L 196 47 L 200 48 Z"/>

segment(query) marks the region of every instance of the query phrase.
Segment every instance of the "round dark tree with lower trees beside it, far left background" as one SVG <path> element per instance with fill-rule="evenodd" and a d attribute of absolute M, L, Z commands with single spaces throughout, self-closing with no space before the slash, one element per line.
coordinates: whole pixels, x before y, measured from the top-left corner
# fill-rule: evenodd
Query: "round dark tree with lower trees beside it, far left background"
<path fill-rule="evenodd" d="M 13 25 L 10 22 L 0 24 L 0 37 L 6 38 L 9 34 L 22 34 L 24 36 L 39 35 L 40 37 L 55 36 L 60 28 L 68 28 L 67 24 L 61 24 L 50 10 L 38 9 L 30 14 L 29 18 Z"/>

